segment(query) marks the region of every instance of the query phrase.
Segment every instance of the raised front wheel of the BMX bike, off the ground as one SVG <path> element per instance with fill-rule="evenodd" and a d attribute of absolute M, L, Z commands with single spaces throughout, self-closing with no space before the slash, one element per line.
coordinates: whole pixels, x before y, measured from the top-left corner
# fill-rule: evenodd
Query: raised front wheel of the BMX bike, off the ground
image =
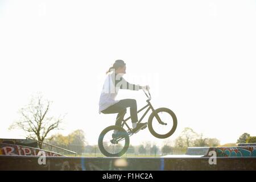
<path fill-rule="evenodd" d="M 177 118 L 174 112 L 168 108 L 161 107 L 155 110 L 162 123 L 159 123 L 154 113 L 148 118 L 148 130 L 156 138 L 167 138 L 174 134 L 177 127 Z"/>

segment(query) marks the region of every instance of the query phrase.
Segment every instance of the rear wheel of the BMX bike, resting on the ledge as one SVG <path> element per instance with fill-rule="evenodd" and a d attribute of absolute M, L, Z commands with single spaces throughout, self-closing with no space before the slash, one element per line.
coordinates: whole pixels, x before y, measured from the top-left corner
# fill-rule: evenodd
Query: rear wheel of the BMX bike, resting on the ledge
<path fill-rule="evenodd" d="M 117 130 L 117 134 L 114 134 L 114 130 Z M 119 126 L 106 127 L 98 138 L 100 151 L 108 157 L 122 156 L 128 150 L 129 144 L 129 135 Z"/>

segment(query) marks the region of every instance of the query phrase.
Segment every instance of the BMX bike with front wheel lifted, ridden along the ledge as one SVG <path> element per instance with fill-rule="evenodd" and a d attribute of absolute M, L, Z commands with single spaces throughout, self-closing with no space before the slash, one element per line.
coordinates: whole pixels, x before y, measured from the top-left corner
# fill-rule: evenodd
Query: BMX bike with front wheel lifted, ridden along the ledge
<path fill-rule="evenodd" d="M 138 110 L 137 113 L 140 113 L 142 110 L 146 109 L 145 113 L 139 119 L 138 123 L 142 122 L 142 119 L 152 110 L 152 113 L 148 117 L 148 130 L 156 138 L 168 138 L 174 134 L 177 127 L 177 118 L 174 112 L 166 107 L 160 107 L 154 109 L 151 105 L 151 94 L 147 90 L 148 94 L 142 89 L 144 94 L 147 96 L 147 105 Z M 125 113 L 124 113 L 125 114 Z M 124 115 L 123 114 L 123 115 Z M 130 137 L 138 131 L 134 132 L 133 129 L 126 123 L 131 117 L 122 120 L 121 126 L 113 125 L 106 127 L 98 138 L 98 147 L 102 154 L 108 157 L 118 157 L 125 154 L 129 148 Z M 126 127 L 126 128 L 125 128 Z M 145 129 L 142 128 L 141 130 Z M 114 134 L 115 131 L 115 134 Z"/>

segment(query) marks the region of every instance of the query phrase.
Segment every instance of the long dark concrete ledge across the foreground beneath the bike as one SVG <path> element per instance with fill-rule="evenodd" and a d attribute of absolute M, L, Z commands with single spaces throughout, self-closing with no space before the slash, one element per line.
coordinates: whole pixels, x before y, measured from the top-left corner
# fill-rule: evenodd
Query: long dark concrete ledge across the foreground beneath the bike
<path fill-rule="evenodd" d="M 0 155 L 0 170 L 256 170 L 255 157 L 79 158 Z"/>

